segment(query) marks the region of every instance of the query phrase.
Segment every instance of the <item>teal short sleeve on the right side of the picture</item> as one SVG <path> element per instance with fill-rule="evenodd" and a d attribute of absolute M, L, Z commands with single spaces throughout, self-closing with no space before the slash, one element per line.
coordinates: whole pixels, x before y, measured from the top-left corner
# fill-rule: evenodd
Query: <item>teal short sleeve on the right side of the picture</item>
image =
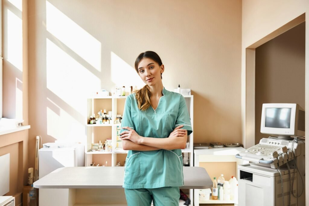
<path fill-rule="evenodd" d="M 188 135 L 192 133 L 193 128 L 191 126 L 187 104 L 182 95 L 180 97 L 179 109 L 178 109 L 178 114 L 177 114 L 177 119 L 176 119 L 174 129 L 175 127 L 180 126 L 180 125 L 183 125 L 181 129 L 185 129 L 188 131 Z"/>

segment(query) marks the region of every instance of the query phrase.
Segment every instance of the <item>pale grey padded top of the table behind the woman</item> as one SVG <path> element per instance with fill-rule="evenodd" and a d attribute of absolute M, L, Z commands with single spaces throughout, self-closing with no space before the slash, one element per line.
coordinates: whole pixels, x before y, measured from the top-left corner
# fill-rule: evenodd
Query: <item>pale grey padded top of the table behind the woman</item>
<path fill-rule="evenodd" d="M 33 183 L 35 188 L 122 188 L 125 167 L 61 167 Z M 203 167 L 184 167 L 182 189 L 213 185 Z"/>

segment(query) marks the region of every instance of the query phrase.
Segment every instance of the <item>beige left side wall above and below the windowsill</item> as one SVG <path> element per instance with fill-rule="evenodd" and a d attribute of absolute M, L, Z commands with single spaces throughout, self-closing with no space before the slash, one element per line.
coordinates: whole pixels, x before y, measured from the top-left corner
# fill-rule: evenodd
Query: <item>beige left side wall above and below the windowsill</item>
<path fill-rule="evenodd" d="M 28 2 L 2 0 L 2 116 L 28 125 Z M 28 181 L 28 130 L 0 136 L 0 155 L 10 153 L 10 191 L 21 203 Z M 35 145 L 35 142 L 34 142 Z M 34 148 L 32 142 L 30 146 Z"/>

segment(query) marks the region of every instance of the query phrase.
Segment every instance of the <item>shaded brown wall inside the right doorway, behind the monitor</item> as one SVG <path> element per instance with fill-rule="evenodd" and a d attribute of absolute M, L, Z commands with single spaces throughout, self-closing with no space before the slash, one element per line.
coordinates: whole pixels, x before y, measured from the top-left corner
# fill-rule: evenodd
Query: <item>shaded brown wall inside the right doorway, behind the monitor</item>
<path fill-rule="evenodd" d="M 297 103 L 305 108 L 305 22 L 256 48 L 255 143 L 263 103 Z"/>

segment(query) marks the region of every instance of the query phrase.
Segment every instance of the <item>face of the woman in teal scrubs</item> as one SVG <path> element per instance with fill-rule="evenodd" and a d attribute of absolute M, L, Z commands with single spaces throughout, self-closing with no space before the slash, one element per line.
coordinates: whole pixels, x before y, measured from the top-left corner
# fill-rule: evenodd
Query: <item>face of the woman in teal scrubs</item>
<path fill-rule="evenodd" d="M 149 58 L 143 58 L 138 64 L 138 74 L 149 86 L 162 82 L 161 73 L 164 72 L 164 65 L 159 66 L 157 62 Z"/>

